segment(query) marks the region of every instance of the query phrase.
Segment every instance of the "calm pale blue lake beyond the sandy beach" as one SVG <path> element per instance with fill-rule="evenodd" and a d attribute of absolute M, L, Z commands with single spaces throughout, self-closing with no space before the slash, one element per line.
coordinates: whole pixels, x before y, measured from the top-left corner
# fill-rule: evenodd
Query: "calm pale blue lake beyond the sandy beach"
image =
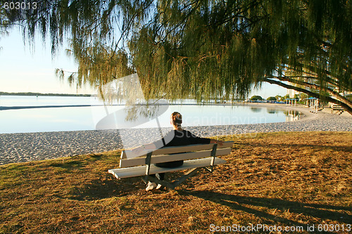
<path fill-rule="evenodd" d="M 262 124 L 294 121 L 300 117 L 299 112 L 284 110 L 285 105 L 281 110 L 251 105 L 196 105 L 187 100 L 182 105 L 180 102 L 163 105 L 161 109 L 156 117 L 132 124 L 127 120 L 118 122 L 115 128 L 169 127 L 169 117 L 174 111 L 182 114 L 182 126 Z M 104 106 L 96 97 L 0 96 L 0 134 L 95 130 L 97 123 L 108 115 L 118 113 L 116 117 L 124 111 L 124 105 Z"/>

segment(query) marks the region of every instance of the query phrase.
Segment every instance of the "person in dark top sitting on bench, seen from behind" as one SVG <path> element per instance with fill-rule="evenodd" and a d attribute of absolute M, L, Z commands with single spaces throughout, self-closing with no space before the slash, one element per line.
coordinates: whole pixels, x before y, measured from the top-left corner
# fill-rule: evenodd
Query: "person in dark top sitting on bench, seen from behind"
<path fill-rule="evenodd" d="M 142 145 L 139 148 L 135 148 L 136 152 L 142 150 L 156 150 L 158 148 L 168 147 L 168 146 L 182 146 L 182 145 L 194 145 L 194 144 L 209 144 L 218 143 L 222 145 L 223 141 L 213 140 L 210 138 L 201 138 L 194 136 L 190 131 L 184 130 L 181 127 L 182 115 L 179 112 L 173 112 L 170 116 L 170 124 L 172 124 L 173 131 L 166 134 L 161 140 L 154 143 L 149 143 L 148 145 Z M 183 160 L 176 160 L 172 162 L 162 162 L 155 164 L 156 167 L 180 167 L 183 164 Z M 163 180 L 165 173 L 152 174 L 149 176 L 157 176 L 158 179 Z M 161 184 L 156 185 L 156 183 L 149 181 L 146 186 L 146 191 L 152 190 L 153 188 L 161 188 Z"/>

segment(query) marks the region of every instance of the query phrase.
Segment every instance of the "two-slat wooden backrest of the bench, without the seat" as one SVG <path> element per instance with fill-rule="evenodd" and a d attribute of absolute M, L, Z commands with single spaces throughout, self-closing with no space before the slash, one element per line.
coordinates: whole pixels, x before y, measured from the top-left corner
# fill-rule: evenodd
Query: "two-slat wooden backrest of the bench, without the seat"
<path fill-rule="evenodd" d="M 226 141 L 222 145 L 218 145 L 215 156 L 230 154 L 233 143 L 233 141 Z M 151 156 L 151 164 L 210 157 L 213 146 L 214 144 L 197 144 L 165 147 L 154 150 Z M 130 159 L 127 159 L 125 155 L 126 152 L 123 150 L 121 154 L 120 167 L 134 167 L 146 164 L 146 154 L 142 155 L 141 157 L 134 157 Z"/>

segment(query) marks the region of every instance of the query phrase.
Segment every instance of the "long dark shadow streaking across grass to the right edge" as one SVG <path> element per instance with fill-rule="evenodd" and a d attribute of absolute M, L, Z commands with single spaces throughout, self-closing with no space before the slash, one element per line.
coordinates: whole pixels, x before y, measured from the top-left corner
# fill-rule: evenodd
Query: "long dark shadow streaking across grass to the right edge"
<path fill-rule="evenodd" d="M 318 219 L 329 219 L 339 221 L 343 223 L 351 223 L 352 216 L 346 214 L 351 212 L 352 207 L 341 207 L 333 206 L 329 204 L 310 204 L 304 202 L 291 202 L 287 200 L 281 200 L 277 198 L 266 198 L 266 197 L 245 197 L 238 195 L 227 195 L 223 193 L 216 193 L 212 191 L 190 191 L 184 190 L 184 195 L 192 195 L 199 197 L 210 202 L 215 202 L 221 205 L 230 207 L 231 209 L 243 211 L 249 214 L 254 214 L 258 217 L 269 219 L 272 221 L 281 221 L 282 223 L 295 224 L 301 226 L 302 223 L 298 223 L 291 219 L 285 219 L 274 214 L 268 214 L 267 212 L 260 211 L 246 207 L 246 205 L 267 209 L 279 209 L 281 212 L 289 211 L 290 213 L 296 213 L 299 216 L 303 214 L 306 216 L 315 217 Z M 342 213 L 344 212 L 344 213 Z M 297 215 L 297 216 L 298 216 Z"/>

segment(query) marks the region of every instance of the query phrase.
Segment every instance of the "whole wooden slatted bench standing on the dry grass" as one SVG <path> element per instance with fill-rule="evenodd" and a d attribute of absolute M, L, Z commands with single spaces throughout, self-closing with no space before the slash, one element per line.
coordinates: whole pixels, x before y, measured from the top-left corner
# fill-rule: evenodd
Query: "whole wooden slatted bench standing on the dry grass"
<path fill-rule="evenodd" d="M 175 147 L 165 147 L 152 152 L 146 152 L 141 157 L 134 157 L 127 159 L 131 150 L 123 150 L 120 159 L 120 168 L 110 169 L 109 173 L 116 178 L 130 178 L 136 176 L 144 176 L 144 182 L 153 181 L 160 183 L 170 189 L 175 189 L 184 180 L 196 174 L 199 169 L 206 169 L 213 172 L 215 165 L 226 163 L 225 160 L 217 156 L 229 155 L 233 141 L 226 141 L 222 145 L 218 144 L 198 144 L 185 145 Z M 161 162 L 172 162 L 176 160 L 184 160 L 180 167 L 156 167 L 153 164 Z M 150 174 L 165 173 L 172 171 L 188 170 L 183 176 L 175 181 L 161 181 L 156 177 L 149 176 Z"/>

